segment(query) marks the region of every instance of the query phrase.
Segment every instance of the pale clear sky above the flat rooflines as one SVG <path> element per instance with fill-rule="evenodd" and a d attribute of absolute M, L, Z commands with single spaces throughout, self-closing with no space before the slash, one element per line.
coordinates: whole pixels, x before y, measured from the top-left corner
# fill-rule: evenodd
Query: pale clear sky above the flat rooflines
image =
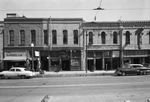
<path fill-rule="evenodd" d="M 0 21 L 7 13 L 28 18 L 83 18 L 85 21 L 150 20 L 150 0 L 0 0 Z M 98 7 L 104 10 L 93 10 Z M 96 19 L 94 19 L 96 16 Z"/>

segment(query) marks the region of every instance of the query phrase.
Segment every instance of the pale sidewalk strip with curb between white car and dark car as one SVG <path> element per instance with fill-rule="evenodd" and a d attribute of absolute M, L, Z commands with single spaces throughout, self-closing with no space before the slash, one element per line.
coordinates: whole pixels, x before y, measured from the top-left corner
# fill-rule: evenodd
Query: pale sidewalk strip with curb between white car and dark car
<path fill-rule="evenodd" d="M 44 74 L 40 74 L 36 72 L 37 77 L 76 77 L 76 76 L 108 76 L 114 75 L 115 70 L 110 71 L 60 71 L 60 72 L 44 72 Z"/>

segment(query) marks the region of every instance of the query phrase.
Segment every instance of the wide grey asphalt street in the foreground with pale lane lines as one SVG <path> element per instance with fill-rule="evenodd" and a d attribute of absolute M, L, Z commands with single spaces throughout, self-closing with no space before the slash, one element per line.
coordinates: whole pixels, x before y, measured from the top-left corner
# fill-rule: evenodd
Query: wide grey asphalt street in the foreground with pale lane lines
<path fill-rule="evenodd" d="M 146 102 L 150 75 L 0 80 L 0 102 Z"/>

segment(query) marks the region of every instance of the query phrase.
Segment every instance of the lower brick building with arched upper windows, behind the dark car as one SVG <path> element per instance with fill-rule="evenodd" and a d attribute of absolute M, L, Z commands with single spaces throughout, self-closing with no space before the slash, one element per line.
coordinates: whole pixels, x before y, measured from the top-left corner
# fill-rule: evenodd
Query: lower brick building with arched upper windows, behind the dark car
<path fill-rule="evenodd" d="M 89 70 L 150 64 L 150 21 L 85 22 L 82 26 Z"/>

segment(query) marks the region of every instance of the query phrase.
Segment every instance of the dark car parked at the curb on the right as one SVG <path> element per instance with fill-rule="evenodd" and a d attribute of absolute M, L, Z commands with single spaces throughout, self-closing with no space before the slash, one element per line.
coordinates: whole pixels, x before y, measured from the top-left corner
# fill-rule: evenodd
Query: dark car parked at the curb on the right
<path fill-rule="evenodd" d="M 116 69 L 115 73 L 122 76 L 127 74 L 146 75 L 150 73 L 150 68 L 144 67 L 142 64 L 128 64 L 124 68 Z"/>

